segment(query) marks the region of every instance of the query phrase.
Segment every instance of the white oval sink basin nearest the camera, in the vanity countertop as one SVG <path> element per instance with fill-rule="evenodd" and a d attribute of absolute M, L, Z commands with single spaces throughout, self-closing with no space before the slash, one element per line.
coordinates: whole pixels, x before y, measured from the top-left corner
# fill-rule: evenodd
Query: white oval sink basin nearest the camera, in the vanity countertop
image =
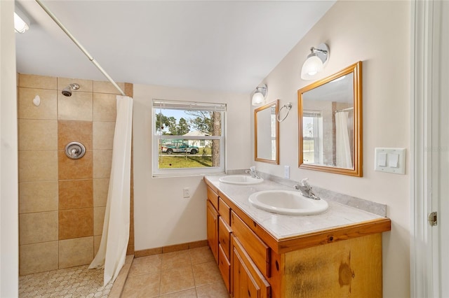
<path fill-rule="evenodd" d="M 328 209 L 323 199 L 310 199 L 294 190 L 264 190 L 248 198 L 250 204 L 264 211 L 285 215 L 314 215 Z"/>

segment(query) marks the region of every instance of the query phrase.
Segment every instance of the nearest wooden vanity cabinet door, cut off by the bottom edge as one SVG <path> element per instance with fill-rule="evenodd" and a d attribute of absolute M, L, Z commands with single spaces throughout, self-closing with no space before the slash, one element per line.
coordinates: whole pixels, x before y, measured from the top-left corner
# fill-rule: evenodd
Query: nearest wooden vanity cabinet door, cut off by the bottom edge
<path fill-rule="evenodd" d="M 234 298 L 267 298 L 271 287 L 255 267 L 236 237 L 232 237 L 232 295 Z"/>

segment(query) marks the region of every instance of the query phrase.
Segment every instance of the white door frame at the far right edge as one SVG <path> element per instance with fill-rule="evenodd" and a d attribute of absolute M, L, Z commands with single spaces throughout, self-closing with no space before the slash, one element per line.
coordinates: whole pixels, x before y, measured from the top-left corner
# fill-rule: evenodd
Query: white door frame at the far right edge
<path fill-rule="evenodd" d="M 411 4 L 410 73 L 410 295 L 440 296 L 438 225 L 427 215 L 438 211 L 437 125 L 441 1 L 414 0 Z M 434 190 L 434 191 L 433 191 Z"/>

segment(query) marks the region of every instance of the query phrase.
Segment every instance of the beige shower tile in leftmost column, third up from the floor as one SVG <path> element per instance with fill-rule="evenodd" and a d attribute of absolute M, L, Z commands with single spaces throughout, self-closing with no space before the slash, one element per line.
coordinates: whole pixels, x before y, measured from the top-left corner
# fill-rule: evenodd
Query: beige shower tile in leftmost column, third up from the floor
<path fill-rule="evenodd" d="M 58 181 L 19 183 L 19 213 L 58 211 Z"/>

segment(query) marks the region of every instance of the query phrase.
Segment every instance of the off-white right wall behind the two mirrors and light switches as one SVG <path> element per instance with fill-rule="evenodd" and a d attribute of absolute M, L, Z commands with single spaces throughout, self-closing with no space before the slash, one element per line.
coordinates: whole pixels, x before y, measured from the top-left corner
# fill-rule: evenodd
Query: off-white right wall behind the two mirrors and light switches
<path fill-rule="evenodd" d="M 309 48 L 323 42 L 330 60 L 316 80 L 363 61 L 363 178 L 297 167 L 297 90 L 313 82 L 301 80 L 300 69 Z M 293 180 L 308 177 L 311 185 L 387 204 L 391 232 L 383 234 L 384 297 L 409 297 L 408 164 L 406 175 L 373 168 L 375 147 L 410 149 L 410 2 L 337 1 L 264 83 L 267 102 L 291 101 L 293 113 L 281 122 L 280 165 L 257 163 L 257 168 L 283 176 L 289 165 Z"/>

